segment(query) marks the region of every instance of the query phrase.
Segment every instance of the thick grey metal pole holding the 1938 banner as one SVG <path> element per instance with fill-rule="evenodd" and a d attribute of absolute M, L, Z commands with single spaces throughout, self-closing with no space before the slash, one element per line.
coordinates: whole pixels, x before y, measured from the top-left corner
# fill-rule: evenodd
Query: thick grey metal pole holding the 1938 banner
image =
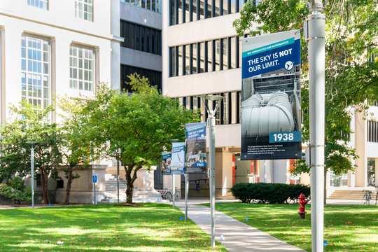
<path fill-rule="evenodd" d="M 311 172 L 311 239 L 314 252 L 323 251 L 324 120 L 325 120 L 325 15 L 323 1 L 311 0 L 309 43 L 309 156 Z"/>

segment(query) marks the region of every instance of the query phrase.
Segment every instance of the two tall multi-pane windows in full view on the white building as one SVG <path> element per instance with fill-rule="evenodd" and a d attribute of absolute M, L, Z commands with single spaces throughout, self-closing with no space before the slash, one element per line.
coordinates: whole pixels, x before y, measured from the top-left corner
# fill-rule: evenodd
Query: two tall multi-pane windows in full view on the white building
<path fill-rule="evenodd" d="M 50 41 L 34 36 L 21 38 L 21 95 L 34 106 L 45 108 L 50 97 Z M 70 88 L 94 88 L 94 50 L 71 45 L 69 48 Z"/>

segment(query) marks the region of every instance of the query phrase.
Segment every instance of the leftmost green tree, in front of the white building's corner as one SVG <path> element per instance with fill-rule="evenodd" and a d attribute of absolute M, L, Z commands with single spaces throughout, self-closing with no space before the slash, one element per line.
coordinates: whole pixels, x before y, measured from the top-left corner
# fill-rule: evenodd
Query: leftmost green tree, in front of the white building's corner
<path fill-rule="evenodd" d="M 30 174 L 30 146 L 27 141 L 37 141 L 38 144 L 34 145 L 34 163 L 36 172 L 39 172 L 41 177 L 45 204 L 50 204 L 48 176 L 55 175 L 55 168 L 62 160 L 58 149 L 60 132 L 55 123 L 50 123 L 50 113 L 53 110 L 52 106 L 40 109 L 24 100 L 19 108 L 10 107 L 14 118 L 0 127 L 0 180 L 8 181 L 13 176 L 22 177 Z"/>

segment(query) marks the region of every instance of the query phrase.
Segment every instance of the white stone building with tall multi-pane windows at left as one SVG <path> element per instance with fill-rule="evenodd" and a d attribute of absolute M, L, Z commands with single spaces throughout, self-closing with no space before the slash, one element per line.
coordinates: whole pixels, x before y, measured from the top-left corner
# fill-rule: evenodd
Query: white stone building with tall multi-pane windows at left
<path fill-rule="evenodd" d="M 91 97 L 98 82 L 119 88 L 119 35 L 118 0 L 1 0 L 1 123 L 8 119 L 10 104 L 18 106 L 23 99 L 44 108 L 64 94 Z M 56 113 L 51 121 L 59 123 Z M 79 171 L 72 202 L 92 202 L 92 174 L 105 169 L 106 165 L 93 165 Z M 49 190 L 56 189 L 57 200 L 64 198 L 62 183 L 49 185 Z"/>

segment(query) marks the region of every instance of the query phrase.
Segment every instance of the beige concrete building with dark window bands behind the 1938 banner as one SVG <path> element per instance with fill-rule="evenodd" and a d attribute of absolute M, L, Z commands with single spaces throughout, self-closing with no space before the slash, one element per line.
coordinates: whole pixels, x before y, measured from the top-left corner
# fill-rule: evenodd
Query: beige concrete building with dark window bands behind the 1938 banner
<path fill-rule="evenodd" d="M 256 1 L 258 3 L 258 1 Z M 232 22 L 239 18 L 244 1 L 187 0 L 162 3 L 162 92 L 180 100 L 188 109 L 200 109 L 207 120 L 203 94 L 225 98 L 216 113 L 216 196 L 225 196 L 235 183 L 309 183 L 307 174 L 293 176 L 294 160 L 240 160 L 241 151 L 241 41 Z M 210 104 L 210 108 L 214 104 Z M 377 113 L 377 107 L 371 111 Z M 362 191 L 377 185 L 375 162 L 377 123 L 353 119 L 351 144 L 360 158 L 356 172 L 340 177 L 328 172 L 328 196 L 346 186 Z M 373 143 L 374 142 L 374 143 Z M 305 148 L 305 146 L 303 146 Z M 176 185 L 180 179 L 176 178 Z M 190 192 L 208 195 L 206 174 L 190 174 Z M 165 185 L 171 184 L 165 178 Z M 181 183 L 182 184 L 182 183 Z M 197 184 L 197 185 L 196 185 Z M 204 188 L 196 190 L 195 188 Z M 203 191 L 203 192 L 202 192 Z M 361 196 L 362 197 L 362 196 Z"/>

